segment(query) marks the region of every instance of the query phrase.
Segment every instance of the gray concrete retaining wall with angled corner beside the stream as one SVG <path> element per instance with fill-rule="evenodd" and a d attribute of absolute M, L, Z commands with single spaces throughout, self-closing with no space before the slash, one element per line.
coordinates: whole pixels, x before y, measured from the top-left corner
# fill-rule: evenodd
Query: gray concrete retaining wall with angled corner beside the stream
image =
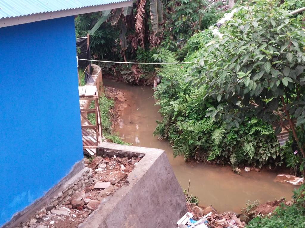
<path fill-rule="evenodd" d="M 79 228 L 171 228 L 186 212 L 185 196 L 164 150 L 102 143 L 97 155 L 143 154 L 123 186 Z"/>

